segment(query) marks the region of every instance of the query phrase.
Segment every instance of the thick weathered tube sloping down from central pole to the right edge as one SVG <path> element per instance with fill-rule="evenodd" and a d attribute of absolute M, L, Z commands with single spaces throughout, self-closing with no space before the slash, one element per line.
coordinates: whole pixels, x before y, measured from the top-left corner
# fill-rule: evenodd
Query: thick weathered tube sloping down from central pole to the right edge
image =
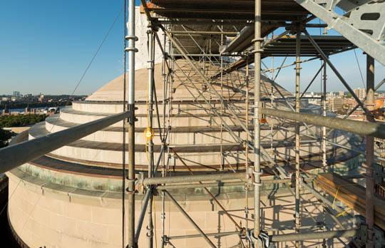
<path fill-rule="evenodd" d="M 343 130 L 359 135 L 369 135 L 376 138 L 385 138 L 385 125 L 381 125 L 379 123 L 367 123 L 359 120 L 346 120 L 335 117 L 324 117 L 322 115 L 294 113 L 291 111 L 276 110 L 272 108 L 262 108 L 262 114 L 274 116 L 277 118 L 284 118 L 287 120 L 295 120 L 312 125 L 319 125 L 332 129 Z"/>

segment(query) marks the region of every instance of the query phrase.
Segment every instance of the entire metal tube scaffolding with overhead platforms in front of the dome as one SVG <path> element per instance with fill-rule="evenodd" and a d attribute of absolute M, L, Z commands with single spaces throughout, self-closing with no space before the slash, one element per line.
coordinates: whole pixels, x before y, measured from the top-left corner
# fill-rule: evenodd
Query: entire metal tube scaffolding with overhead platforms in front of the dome
<path fill-rule="evenodd" d="M 145 130 L 145 149 L 148 154 L 147 175 L 135 174 L 135 1 L 128 0 L 128 32 L 125 36 L 125 53 L 128 53 L 128 105 L 127 111 L 93 123 L 79 125 L 75 128 L 53 133 L 51 136 L 36 138 L 28 142 L 13 145 L 0 150 L 1 171 L 10 170 L 24 162 L 33 160 L 63 145 L 81 139 L 86 135 L 106 128 L 120 120 L 128 120 L 128 172 L 125 173 L 123 160 L 123 177 L 128 187 L 123 187 L 123 202 L 127 197 L 128 212 L 123 211 L 123 247 L 126 245 L 124 224 L 127 226 L 127 247 L 138 246 L 143 222 L 147 217 L 147 244 L 141 247 L 153 247 L 153 198 L 160 197 L 161 211 L 161 243 L 162 247 L 173 246 L 177 239 L 202 237 L 208 247 L 219 247 L 212 242 L 212 237 L 237 235 L 237 247 L 270 247 L 279 242 L 294 242 L 301 247 L 302 242 L 322 239 L 325 247 L 327 239 L 353 238 L 351 244 L 359 247 L 380 247 L 381 240 L 376 239 L 376 226 L 384 228 L 385 219 L 376 209 L 375 188 L 380 177 L 374 171 L 374 165 L 384 161 L 374 152 L 374 138 L 385 138 L 385 127 L 374 119 L 374 93 L 385 82 L 377 86 L 374 82 L 374 59 L 384 63 L 384 44 L 379 29 L 384 27 L 383 17 L 376 19 L 374 29 L 361 31 L 364 24 L 357 23 L 357 6 L 371 11 L 374 7 L 384 9 L 385 3 L 376 1 L 369 5 L 368 1 L 302 1 L 302 0 L 250 0 L 250 1 L 203 1 L 203 0 L 141 0 L 141 11 L 148 19 L 148 125 Z M 338 3 L 338 4 L 337 4 Z M 314 6 L 315 4 L 315 6 Z M 336 16 L 325 12 L 340 7 L 351 11 L 351 16 Z M 362 13 L 362 9 L 361 12 Z M 364 13 L 365 14 L 365 13 Z M 332 18 L 337 21 L 332 21 Z M 348 18 L 349 17 L 349 18 Z M 374 16 L 366 16 L 375 19 Z M 312 20 L 322 19 L 322 24 L 314 24 Z M 349 20 L 354 25 L 346 29 Z M 343 36 L 312 35 L 309 29 L 337 29 Z M 381 29 L 383 30 L 383 29 Z M 356 36 L 354 33 L 356 32 Z M 274 33 L 274 35 L 272 35 Z M 367 38 L 368 43 L 363 43 Z M 126 44 L 127 43 L 127 44 Z M 126 46 L 128 45 L 128 46 Z M 160 48 L 163 61 L 162 71 L 163 95 L 158 98 L 155 91 L 154 54 L 155 46 Z M 330 56 L 344 53 L 355 48 L 366 53 L 366 99 L 363 102 L 351 89 L 334 64 Z M 271 68 L 264 66 L 263 58 L 284 57 L 282 64 Z M 284 64 L 287 57 L 294 57 L 294 63 Z M 302 63 L 320 60 L 321 66 L 314 74 L 304 91 L 301 91 Z M 253 66 L 254 65 L 254 66 Z M 282 68 L 295 66 L 295 93 L 287 93 L 275 83 Z M 356 100 L 356 108 L 361 108 L 366 115 L 366 122 L 334 118 L 327 116 L 326 94 L 327 73 L 332 71 L 347 91 Z M 271 76 L 267 76 L 271 73 Z M 319 115 L 304 113 L 304 96 L 317 76 L 322 75 L 322 97 Z M 179 85 L 175 85 L 178 80 Z M 263 82 L 268 82 L 263 83 Z M 184 88 L 191 100 L 175 100 L 175 88 Z M 125 98 L 124 98 L 125 99 Z M 123 101 L 125 104 L 125 100 Z M 138 103 L 139 104 L 139 103 Z M 282 107 L 284 106 L 284 108 Z M 155 113 L 154 113 L 155 111 Z M 350 113 L 352 113 L 351 111 Z M 350 114 L 349 113 L 349 114 Z M 183 115 L 207 123 L 207 128 L 189 127 L 195 135 L 210 136 L 215 145 L 189 144 L 178 145 L 172 142 L 173 134 L 182 128 L 174 128 L 172 117 Z M 349 116 L 347 115 L 347 117 Z M 321 127 L 317 129 L 317 127 Z M 329 129 L 329 130 L 327 130 Z M 87 132 L 84 132 L 87 130 Z M 125 129 L 123 129 L 125 131 Z M 342 130 L 364 137 L 354 146 L 344 145 L 330 135 L 333 130 Z M 289 133 L 285 140 L 278 140 L 282 132 Z M 123 135 L 123 137 L 125 137 Z M 356 137 L 356 136 L 354 136 Z M 155 139 L 158 139 L 158 145 Z M 49 143 L 55 140 L 56 146 Z M 57 140 L 60 142 L 57 143 Z M 123 145 L 125 141 L 123 140 Z M 307 144 L 317 143 L 319 151 L 304 155 Z M 282 154 L 280 148 L 290 148 L 288 155 Z M 14 156 L 28 150 L 21 156 Z M 125 150 L 125 149 L 123 149 Z M 212 159 L 220 158 L 216 165 L 206 165 L 196 161 L 188 152 L 207 153 Z M 155 156 L 158 153 L 158 157 Z M 343 205 L 334 204 L 330 200 L 332 189 L 322 186 L 322 178 L 327 178 L 327 167 L 332 163 L 329 157 L 351 152 L 364 155 L 365 203 L 356 208 L 349 205 L 349 193 L 346 195 L 334 192 L 334 200 Z M 343 154 L 347 156 L 346 154 Z M 382 165 L 382 163 L 381 163 Z M 319 169 L 313 173 L 314 168 Z M 382 167 L 381 167 L 382 170 Z M 181 172 L 180 174 L 176 172 Z M 205 173 L 202 173 L 205 172 Z M 271 175 L 272 179 L 262 177 Z M 319 177 L 317 174 L 323 175 Z M 381 174 L 381 173 L 380 173 Z M 353 178 L 353 177 L 352 177 Z M 344 178 L 346 180 L 346 178 Z M 261 211 L 261 191 L 263 185 L 274 185 L 287 190 L 289 197 L 294 197 L 294 231 L 283 234 L 270 234 L 273 229 L 265 228 Z M 245 192 L 245 207 L 242 210 L 245 222 L 238 222 L 231 209 L 226 209 L 211 191 L 222 187 L 242 187 Z M 341 185 L 339 185 L 341 187 Z M 175 189 L 202 188 L 207 200 L 215 202 L 221 214 L 235 227 L 232 232 L 205 233 L 200 223 L 195 221 L 180 205 L 171 193 Z M 143 205 L 135 222 L 135 195 L 143 194 Z M 351 193 L 353 194 L 353 193 Z M 316 202 L 309 200 L 309 195 Z M 274 196 L 273 196 L 274 197 Z M 196 230 L 196 234 L 173 235 L 165 232 L 165 216 L 168 215 L 165 201 L 169 200 L 180 213 L 188 219 Z M 250 204 L 252 200 L 252 204 Z M 317 206 L 315 206 L 317 205 Z M 312 216 L 313 207 L 321 207 L 323 218 L 331 218 L 335 224 L 328 225 Z M 124 206 L 123 206 L 124 209 Z M 350 212 L 360 212 L 365 221 L 361 224 L 344 223 L 341 218 Z M 309 216 L 311 227 L 317 232 L 302 231 L 307 226 L 302 224 L 302 217 Z M 124 216 L 128 221 L 124 222 Z M 384 215 L 385 216 L 385 215 Z M 341 218 L 340 218 L 341 217 Z M 381 224 L 382 223 L 382 224 Z M 293 230 L 294 229 L 294 230 Z M 142 234 L 143 235 L 143 234 Z"/>

